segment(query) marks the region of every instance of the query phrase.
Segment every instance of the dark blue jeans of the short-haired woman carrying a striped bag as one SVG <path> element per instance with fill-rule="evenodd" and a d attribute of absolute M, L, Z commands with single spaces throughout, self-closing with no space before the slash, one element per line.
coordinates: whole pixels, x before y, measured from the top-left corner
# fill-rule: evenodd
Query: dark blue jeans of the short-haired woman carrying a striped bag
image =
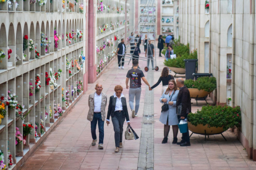
<path fill-rule="evenodd" d="M 124 131 L 123 126 L 126 117 L 122 116 L 122 111 L 115 111 L 111 119 L 114 126 L 114 142 L 116 147 L 119 147 L 120 142 L 122 142 L 122 131 Z"/>

